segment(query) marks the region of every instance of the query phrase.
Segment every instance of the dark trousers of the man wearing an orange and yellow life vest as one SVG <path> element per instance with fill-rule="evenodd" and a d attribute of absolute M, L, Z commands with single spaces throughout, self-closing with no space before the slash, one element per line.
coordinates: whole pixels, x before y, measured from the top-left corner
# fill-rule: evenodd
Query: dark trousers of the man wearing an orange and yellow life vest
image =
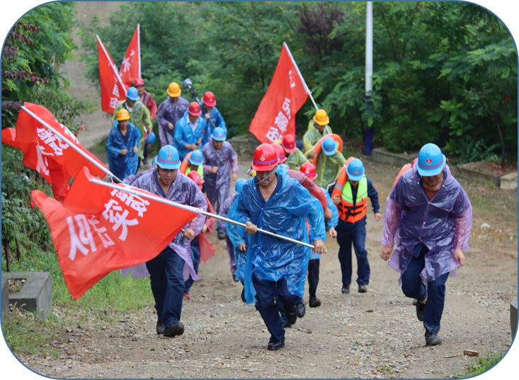
<path fill-rule="evenodd" d="M 364 282 L 366 285 L 369 284 L 371 271 L 365 248 L 366 225 L 356 223 L 349 231 L 338 229 L 337 243 L 339 246 L 338 260 L 341 263 L 341 272 L 343 273 L 343 285 L 349 286 L 351 284 L 351 243 L 353 243 L 355 256 L 357 256 L 357 282 Z"/>

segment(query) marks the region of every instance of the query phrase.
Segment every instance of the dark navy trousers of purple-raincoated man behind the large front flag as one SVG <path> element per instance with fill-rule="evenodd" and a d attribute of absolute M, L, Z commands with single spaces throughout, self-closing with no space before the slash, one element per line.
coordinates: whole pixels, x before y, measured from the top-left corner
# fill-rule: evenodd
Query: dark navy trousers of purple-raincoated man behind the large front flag
<path fill-rule="evenodd" d="M 152 280 L 157 316 L 164 321 L 164 326 L 180 321 L 185 287 L 184 260 L 166 247 L 156 258 L 149 260 L 146 267 Z"/>

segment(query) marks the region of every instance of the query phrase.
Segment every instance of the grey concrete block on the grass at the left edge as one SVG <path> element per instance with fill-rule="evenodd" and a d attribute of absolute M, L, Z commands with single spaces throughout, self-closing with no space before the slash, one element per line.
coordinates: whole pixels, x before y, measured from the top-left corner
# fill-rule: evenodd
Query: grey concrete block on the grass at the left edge
<path fill-rule="evenodd" d="M 9 294 L 9 303 L 46 319 L 52 311 L 52 286 L 49 272 L 9 272 L 2 273 L 2 277 L 13 279 L 27 279 L 20 292 Z"/>

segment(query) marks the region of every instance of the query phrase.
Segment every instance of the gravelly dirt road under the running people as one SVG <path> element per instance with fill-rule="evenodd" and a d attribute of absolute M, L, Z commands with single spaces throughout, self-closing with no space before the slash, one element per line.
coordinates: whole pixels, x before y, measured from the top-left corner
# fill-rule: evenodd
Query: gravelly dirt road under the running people
<path fill-rule="evenodd" d="M 365 163 L 383 210 L 398 168 Z M 246 162 L 240 167 L 244 171 Z M 352 286 L 351 294 L 341 294 L 338 246 L 328 236 L 317 290 L 322 306 L 307 308 L 306 316 L 287 329 L 282 350 L 266 350 L 266 327 L 253 306 L 241 303 L 241 285 L 232 281 L 224 242 L 212 236 L 217 256 L 200 265 L 202 280 L 191 290 L 193 299 L 183 304 L 186 332 L 181 337 L 157 337 L 156 314 L 150 304 L 137 313 L 115 316 L 118 323 L 111 325 L 95 321 L 78 328 L 71 321 L 72 332 L 63 329 L 58 332 L 60 338 L 50 342 L 60 352 L 59 359 L 19 357 L 40 374 L 63 378 L 438 378 L 460 374 L 472 360 L 463 357 L 463 350 L 477 350 L 481 355 L 508 350 L 512 339 L 509 304 L 518 292 L 517 190 L 462 185 L 474 205 L 474 229 L 466 265 L 447 281 L 440 331 L 443 345 L 425 346 L 424 329 L 411 299 L 397 287 L 397 273 L 380 259 L 382 221 L 370 214 L 369 291 L 359 294 Z M 490 227 L 481 229 L 484 223 Z M 353 263 L 355 273 L 355 259 Z"/>

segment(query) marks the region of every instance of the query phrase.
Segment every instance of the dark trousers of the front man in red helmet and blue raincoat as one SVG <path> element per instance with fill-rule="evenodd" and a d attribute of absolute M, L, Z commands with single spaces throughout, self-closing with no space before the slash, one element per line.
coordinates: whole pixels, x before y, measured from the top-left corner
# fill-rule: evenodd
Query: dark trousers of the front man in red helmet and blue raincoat
<path fill-rule="evenodd" d="M 285 338 L 285 329 L 278 312 L 278 302 L 285 309 L 295 308 L 299 297 L 288 292 L 285 279 L 275 281 L 260 281 L 256 275 L 252 275 L 252 283 L 256 289 L 256 309 L 258 309 L 263 322 L 270 333 L 270 342 L 280 342 Z"/>

